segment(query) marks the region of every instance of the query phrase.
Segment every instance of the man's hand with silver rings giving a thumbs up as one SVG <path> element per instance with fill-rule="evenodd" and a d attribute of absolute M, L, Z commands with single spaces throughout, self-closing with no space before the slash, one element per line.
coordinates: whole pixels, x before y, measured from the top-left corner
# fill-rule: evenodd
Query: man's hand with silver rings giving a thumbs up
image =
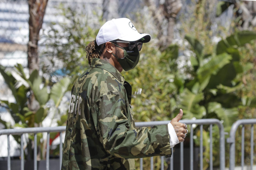
<path fill-rule="evenodd" d="M 179 113 L 177 114 L 177 116 L 171 120 L 171 124 L 173 125 L 173 128 L 176 132 L 179 142 L 183 142 L 187 134 L 187 125 L 179 122 L 182 116 L 183 116 L 183 111 L 182 109 L 179 109 Z"/>

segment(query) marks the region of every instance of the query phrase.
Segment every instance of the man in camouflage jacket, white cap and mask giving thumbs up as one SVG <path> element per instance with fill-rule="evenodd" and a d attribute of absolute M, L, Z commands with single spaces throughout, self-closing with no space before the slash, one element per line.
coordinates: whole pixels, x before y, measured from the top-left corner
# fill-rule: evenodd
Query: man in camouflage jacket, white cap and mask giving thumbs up
<path fill-rule="evenodd" d="M 72 88 L 62 169 L 135 169 L 134 158 L 170 157 L 184 141 L 183 112 L 168 125 L 135 128 L 131 86 L 120 72 L 133 69 L 149 34 L 138 33 L 127 18 L 106 22 L 86 46 L 90 68 Z"/>

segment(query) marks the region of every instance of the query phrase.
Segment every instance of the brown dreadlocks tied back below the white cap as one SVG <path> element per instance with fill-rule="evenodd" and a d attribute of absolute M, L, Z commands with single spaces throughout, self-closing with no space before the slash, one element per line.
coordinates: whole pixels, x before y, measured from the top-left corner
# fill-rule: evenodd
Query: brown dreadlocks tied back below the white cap
<path fill-rule="evenodd" d="M 88 58 L 88 63 L 91 65 L 91 60 L 93 58 L 99 58 L 105 49 L 105 43 L 101 45 L 97 45 L 96 39 L 94 41 L 91 41 L 86 47 L 86 58 Z"/>

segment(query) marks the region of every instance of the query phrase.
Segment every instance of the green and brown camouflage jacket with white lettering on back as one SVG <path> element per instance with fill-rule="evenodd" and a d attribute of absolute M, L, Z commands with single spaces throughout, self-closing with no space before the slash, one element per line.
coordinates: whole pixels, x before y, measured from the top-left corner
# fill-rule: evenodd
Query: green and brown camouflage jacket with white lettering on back
<path fill-rule="evenodd" d="M 94 58 L 72 88 L 62 169 L 135 169 L 133 158 L 170 157 L 167 125 L 135 128 L 131 86 Z"/>

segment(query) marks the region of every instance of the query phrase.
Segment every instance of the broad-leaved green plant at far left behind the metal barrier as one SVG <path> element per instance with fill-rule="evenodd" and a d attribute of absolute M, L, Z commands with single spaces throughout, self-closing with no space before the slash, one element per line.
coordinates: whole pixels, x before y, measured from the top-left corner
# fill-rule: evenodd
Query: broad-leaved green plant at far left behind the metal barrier
<path fill-rule="evenodd" d="M 1 122 L 6 125 L 5 128 L 41 127 L 42 121 L 49 113 L 49 107 L 46 104 L 50 100 L 52 100 L 55 104 L 54 114 L 59 114 L 59 117 L 61 117 L 61 119 L 58 121 L 58 125 L 64 125 L 67 119 L 67 114 L 60 114 L 59 104 L 64 94 L 71 89 L 72 80 L 68 77 L 62 78 L 50 88 L 47 80 L 41 78 L 37 70 L 34 70 L 29 77 L 27 77 L 20 64 L 15 66 L 15 69 L 15 72 L 10 73 L 0 65 L 0 73 L 2 74 L 15 98 L 14 103 L 3 100 L 0 101 L 1 106 L 7 109 L 15 121 L 15 125 L 11 127 L 7 126 L 8 124 L 1 120 Z M 37 109 L 34 111 L 31 111 L 27 105 L 27 100 L 29 100 L 28 96 L 31 94 L 31 92 L 33 92 L 35 100 L 38 104 Z M 54 137 L 55 135 L 51 135 L 51 139 L 54 139 Z M 20 141 L 19 135 L 14 135 L 14 138 L 17 142 Z M 29 135 L 28 147 L 31 147 L 33 138 L 33 135 Z M 46 142 L 42 142 L 42 139 L 42 134 L 38 134 L 38 146 L 41 148 L 41 158 L 44 158 Z M 29 150 L 31 151 L 31 148 Z M 32 154 L 32 152 L 29 154 Z"/>

